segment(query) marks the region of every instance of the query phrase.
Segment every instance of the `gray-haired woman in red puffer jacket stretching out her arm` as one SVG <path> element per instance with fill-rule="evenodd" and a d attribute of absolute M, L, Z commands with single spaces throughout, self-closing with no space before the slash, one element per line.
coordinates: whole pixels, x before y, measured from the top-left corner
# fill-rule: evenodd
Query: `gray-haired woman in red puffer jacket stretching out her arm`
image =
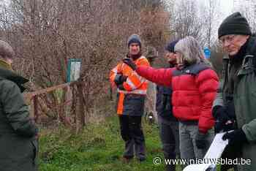
<path fill-rule="evenodd" d="M 189 159 L 202 159 L 213 140 L 211 106 L 219 79 L 195 38 L 181 39 L 174 50 L 176 68 L 135 66 L 129 59 L 124 59 L 124 63 L 147 80 L 173 88 L 173 115 L 179 121 L 181 158 L 189 162 Z"/>

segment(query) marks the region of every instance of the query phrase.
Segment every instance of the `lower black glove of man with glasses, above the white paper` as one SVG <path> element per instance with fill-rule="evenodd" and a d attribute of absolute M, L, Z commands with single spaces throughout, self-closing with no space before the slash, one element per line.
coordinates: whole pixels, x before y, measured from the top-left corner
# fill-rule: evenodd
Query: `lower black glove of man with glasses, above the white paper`
<path fill-rule="evenodd" d="M 242 129 L 236 129 L 233 132 L 227 132 L 223 135 L 222 140 L 228 140 L 229 145 L 243 145 L 248 142 Z"/>

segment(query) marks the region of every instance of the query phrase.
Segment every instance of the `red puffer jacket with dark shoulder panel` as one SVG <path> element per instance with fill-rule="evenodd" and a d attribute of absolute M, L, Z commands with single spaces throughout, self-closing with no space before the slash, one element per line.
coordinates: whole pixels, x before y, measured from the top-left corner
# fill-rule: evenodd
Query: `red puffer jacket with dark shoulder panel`
<path fill-rule="evenodd" d="M 136 72 L 151 82 L 173 88 L 173 115 L 179 121 L 198 121 L 200 132 L 214 126 L 211 106 L 219 78 L 209 66 L 194 64 L 182 70 L 138 66 Z"/>

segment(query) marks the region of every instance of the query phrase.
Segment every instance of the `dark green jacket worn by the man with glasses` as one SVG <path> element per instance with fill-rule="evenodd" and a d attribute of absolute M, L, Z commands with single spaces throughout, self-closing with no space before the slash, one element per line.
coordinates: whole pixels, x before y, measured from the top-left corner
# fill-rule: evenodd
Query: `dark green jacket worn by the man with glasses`
<path fill-rule="evenodd" d="M 238 128 L 243 129 L 249 143 L 241 147 L 242 158 L 251 164 L 238 165 L 238 170 L 256 170 L 256 38 L 250 37 L 244 58 L 233 83 L 233 101 Z M 224 69 L 229 71 L 229 69 Z M 224 83 L 225 87 L 225 83 Z M 223 93 L 223 94 L 222 94 Z M 219 91 L 214 105 L 225 104 L 225 91 Z"/>

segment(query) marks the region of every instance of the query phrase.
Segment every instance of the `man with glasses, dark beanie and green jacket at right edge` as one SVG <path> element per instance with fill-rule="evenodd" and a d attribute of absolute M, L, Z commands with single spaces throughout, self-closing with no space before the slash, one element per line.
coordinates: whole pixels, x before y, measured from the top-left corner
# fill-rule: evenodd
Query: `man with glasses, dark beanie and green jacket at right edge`
<path fill-rule="evenodd" d="M 223 80 L 214 101 L 218 129 L 226 134 L 239 158 L 237 170 L 256 170 L 256 37 L 239 12 L 223 20 L 219 42 L 228 58 L 223 59 Z M 230 128 L 236 129 L 227 132 Z"/>

